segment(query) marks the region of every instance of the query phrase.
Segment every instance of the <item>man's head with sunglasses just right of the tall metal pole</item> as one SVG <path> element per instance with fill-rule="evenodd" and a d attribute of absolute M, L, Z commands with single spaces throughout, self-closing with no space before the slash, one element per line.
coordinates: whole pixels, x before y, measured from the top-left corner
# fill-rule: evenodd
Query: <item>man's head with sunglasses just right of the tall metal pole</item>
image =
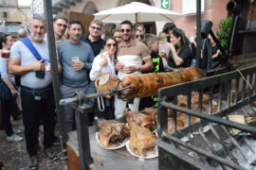
<path fill-rule="evenodd" d="M 63 15 L 57 15 L 53 19 L 54 38 L 56 45 L 64 41 L 64 32 L 67 27 L 67 19 Z"/>

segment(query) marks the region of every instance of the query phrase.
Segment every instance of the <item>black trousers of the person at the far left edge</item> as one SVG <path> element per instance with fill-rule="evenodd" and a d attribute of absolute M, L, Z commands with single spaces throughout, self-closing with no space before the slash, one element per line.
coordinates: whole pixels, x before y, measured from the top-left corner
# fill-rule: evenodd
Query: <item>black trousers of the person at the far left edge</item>
<path fill-rule="evenodd" d="M 16 110 L 15 105 L 17 105 L 15 98 L 2 100 L 2 124 L 7 136 L 11 136 L 13 133 L 9 118 L 10 113 Z"/>

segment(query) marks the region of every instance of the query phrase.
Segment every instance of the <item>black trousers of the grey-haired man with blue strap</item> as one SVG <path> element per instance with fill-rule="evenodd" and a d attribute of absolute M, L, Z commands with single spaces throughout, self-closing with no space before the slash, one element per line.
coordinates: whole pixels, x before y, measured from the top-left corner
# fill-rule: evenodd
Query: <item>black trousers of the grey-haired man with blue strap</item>
<path fill-rule="evenodd" d="M 34 100 L 33 94 L 27 88 L 21 88 L 23 122 L 25 127 L 25 138 L 29 156 L 37 153 L 39 120 L 44 125 L 44 146 L 50 147 L 53 140 L 55 127 L 54 115 L 55 104 L 52 88 L 47 98 L 42 101 Z"/>

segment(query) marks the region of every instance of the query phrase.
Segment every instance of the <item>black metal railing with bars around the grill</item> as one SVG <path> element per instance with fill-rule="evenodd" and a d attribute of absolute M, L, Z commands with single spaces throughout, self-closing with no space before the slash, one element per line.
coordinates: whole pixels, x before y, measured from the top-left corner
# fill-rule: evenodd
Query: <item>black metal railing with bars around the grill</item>
<path fill-rule="evenodd" d="M 242 130 L 243 132 L 249 132 L 254 135 L 256 134 L 256 127 L 231 122 L 223 117 L 226 117 L 229 115 L 229 113 L 239 110 L 249 105 L 250 102 L 255 101 L 255 73 L 256 68 L 253 67 L 244 69 L 241 72 L 233 71 L 228 74 L 211 76 L 208 78 L 199 79 L 197 81 L 160 89 L 158 91 L 158 129 L 160 138 L 155 142 L 160 147 L 159 169 L 165 169 L 165 165 L 168 163 L 164 162 L 164 160 L 167 158 L 167 155 L 169 157 L 170 154 L 174 156 L 172 159 L 178 158 L 175 160 L 181 162 L 180 167 L 184 166 L 188 168 L 189 166 L 192 166 L 191 169 L 210 168 L 211 166 L 209 162 L 206 161 L 210 159 L 219 162 L 223 169 L 226 169 L 226 166 L 233 169 L 245 169 L 238 164 L 237 159 L 229 151 L 229 145 L 225 144 L 225 142 L 221 140 L 218 130 L 214 128 L 214 124 L 212 123 L 220 125 L 222 133 L 227 134 L 231 144 L 236 146 L 241 152 L 243 158 L 247 160 L 245 154 L 241 151 L 242 149 L 240 145 L 231 135 L 229 135 L 227 127 L 234 127 Z M 244 78 L 242 78 L 242 76 L 244 76 Z M 192 110 L 192 92 L 199 93 L 198 110 Z M 203 113 L 202 111 L 203 93 L 209 94 L 208 113 Z M 179 94 L 185 94 L 188 96 L 187 108 L 177 106 L 177 95 Z M 217 111 L 211 113 L 213 98 L 217 101 Z M 173 110 L 174 128 L 171 134 L 168 133 L 168 109 Z M 252 111 L 255 112 L 255 110 Z M 186 125 L 181 129 L 177 129 L 176 126 L 178 113 L 187 114 Z M 246 111 L 245 114 L 248 116 Z M 192 124 L 191 116 L 200 118 L 200 121 L 196 121 Z M 213 149 L 213 146 L 210 144 L 210 140 L 204 135 L 202 130 L 202 127 L 207 125 L 210 127 L 210 131 L 217 139 L 218 143 L 221 144 L 224 150 L 227 152 L 231 161 L 227 161 L 226 159 L 219 157 L 218 153 L 216 153 L 216 151 Z M 195 131 L 199 131 L 202 138 L 201 141 L 206 144 L 207 149 L 202 149 L 194 144 L 190 144 L 192 133 Z M 180 139 L 183 137 L 188 137 L 189 143 L 181 141 Z M 167 145 L 169 149 L 166 149 Z M 181 146 L 198 153 L 200 161 L 185 155 L 180 149 L 178 149 Z M 248 144 L 248 146 L 251 147 L 250 144 Z M 169 159 L 169 161 L 172 159 Z M 171 164 L 169 163 L 168 166 L 172 167 L 174 164 L 175 163 L 171 162 Z"/>

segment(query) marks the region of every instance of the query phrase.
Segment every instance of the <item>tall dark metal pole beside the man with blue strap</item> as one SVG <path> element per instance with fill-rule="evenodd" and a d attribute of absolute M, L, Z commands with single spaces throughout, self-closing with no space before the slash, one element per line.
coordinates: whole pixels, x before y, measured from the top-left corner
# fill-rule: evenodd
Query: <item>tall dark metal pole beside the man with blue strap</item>
<path fill-rule="evenodd" d="M 67 133 L 64 128 L 64 114 L 63 107 L 59 105 L 59 101 L 62 98 L 61 94 L 61 84 L 58 72 L 57 65 L 57 55 L 56 55 L 56 46 L 54 40 L 54 30 L 53 30 L 53 20 L 52 20 L 52 5 L 51 0 L 44 0 L 45 5 L 45 16 L 46 16 L 46 28 L 47 28 L 47 42 L 48 42 L 48 50 L 50 55 L 50 67 L 51 67 L 51 75 L 53 82 L 53 91 L 55 98 L 55 106 L 57 110 L 57 117 L 59 122 L 59 128 L 61 133 L 61 144 L 62 150 L 65 149 L 65 143 L 67 141 Z"/>

